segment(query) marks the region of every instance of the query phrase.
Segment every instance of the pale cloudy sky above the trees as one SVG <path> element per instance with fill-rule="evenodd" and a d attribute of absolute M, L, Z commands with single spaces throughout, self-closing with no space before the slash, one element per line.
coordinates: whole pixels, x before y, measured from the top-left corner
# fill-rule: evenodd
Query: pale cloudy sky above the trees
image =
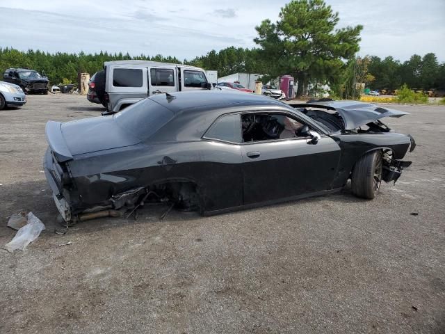
<path fill-rule="evenodd" d="M 0 47 L 49 52 L 127 51 L 190 60 L 254 47 L 255 26 L 278 19 L 282 0 L 0 0 Z M 339 27 L 362 24 L 359 56 L 434 52 L 445 62 L 445 0 L 326 0 Z"/>

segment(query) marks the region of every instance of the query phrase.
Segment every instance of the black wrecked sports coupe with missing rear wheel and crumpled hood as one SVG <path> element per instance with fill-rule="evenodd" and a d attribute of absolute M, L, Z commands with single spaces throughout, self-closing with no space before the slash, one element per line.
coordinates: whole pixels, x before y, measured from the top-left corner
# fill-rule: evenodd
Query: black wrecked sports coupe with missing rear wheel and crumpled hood
<path fill-rule="evenodd" d="M 341 189 L 373 198 L 414 150 L 361 102 L 284 104 L 227 91 L 159 94 L 124 111 L 48 122 L 44 172 L 65 221 L 144 202 L 216 214 Z"/>

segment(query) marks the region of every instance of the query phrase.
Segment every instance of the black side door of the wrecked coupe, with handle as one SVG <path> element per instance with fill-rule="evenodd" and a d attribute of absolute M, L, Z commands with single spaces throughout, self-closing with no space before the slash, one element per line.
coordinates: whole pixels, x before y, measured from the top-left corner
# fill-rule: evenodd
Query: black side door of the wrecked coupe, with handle
<path fill-rule="evenodd" d="M 258 124 L 256 126 L 261 128 L 258 129 L 256 137 L 252 136 L 251 140 L 246 142 L 248 137 L 245 136 L 243 119 L 246 115 L 282 120 L 289 118 L 301 126 L 309 125 L 290 113 L 261 112 L 242 116 L 244 142 L 241 145 L 241 153 L 245 205 L 331 189 L 340 157 L 339 145 L 332 138 L 320 132 L 317 143 L 309 136 L 293 137 L 295 132 L 282 130 L 283 125 L 278 125 L 280 122 L 277 122 L 279 129 L 275 137 L 269 133 L 270 138 L 262 138 L 261 131 L 270 127 L 270 124 Z M 316 131 L 311 125 L 309 128 Z M 283 138 L 284 131 L 292 135 Z"/>

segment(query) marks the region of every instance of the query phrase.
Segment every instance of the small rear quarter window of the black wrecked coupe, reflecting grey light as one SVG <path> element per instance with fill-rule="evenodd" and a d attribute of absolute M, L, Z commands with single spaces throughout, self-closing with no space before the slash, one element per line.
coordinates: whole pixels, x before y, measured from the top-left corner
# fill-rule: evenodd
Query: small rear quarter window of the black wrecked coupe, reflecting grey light
<path fill-rule="evenodd" d="M 237 114 L 220 116 L 209 127 L 204 138 L 239 143 L 241 141 L 240 118 Z"/>

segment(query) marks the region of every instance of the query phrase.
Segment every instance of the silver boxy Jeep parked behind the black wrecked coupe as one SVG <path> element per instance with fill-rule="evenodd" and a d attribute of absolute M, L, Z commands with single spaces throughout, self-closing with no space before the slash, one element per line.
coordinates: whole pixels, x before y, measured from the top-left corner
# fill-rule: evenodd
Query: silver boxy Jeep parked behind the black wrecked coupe
<path fill-rule="evenodd" d="M 195 66 L 156 61 L 106 61 L 104 70 L 103 104 L 108 113 L 118 112 L 153 94 L 211 88 L 205 71 Z"/>

